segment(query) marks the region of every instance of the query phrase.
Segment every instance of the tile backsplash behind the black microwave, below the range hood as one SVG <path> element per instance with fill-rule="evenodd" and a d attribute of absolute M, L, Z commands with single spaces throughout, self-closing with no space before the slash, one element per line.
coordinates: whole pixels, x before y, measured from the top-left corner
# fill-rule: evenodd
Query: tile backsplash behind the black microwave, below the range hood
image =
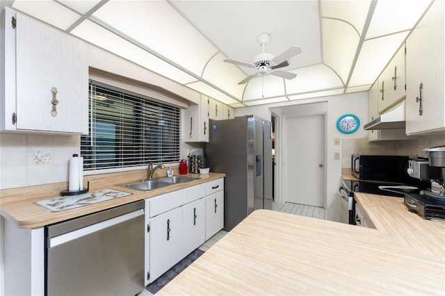
<path fill-rule="evenodd" d="M 369 142 L 368 138 L 341 140 L 341 167 L 350 167 L 351 154 L 407 155 L 426 157 L 423 149 L 444 146 L 445 135 L 418 136 L 412 140 Z"/>

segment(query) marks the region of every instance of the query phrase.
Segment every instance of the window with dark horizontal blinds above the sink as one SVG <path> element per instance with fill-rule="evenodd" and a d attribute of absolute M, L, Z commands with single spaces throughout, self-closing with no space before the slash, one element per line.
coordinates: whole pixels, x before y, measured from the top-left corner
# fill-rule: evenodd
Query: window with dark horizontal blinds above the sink
<path fill-rule="evenodd" d="M 83 170 L 179 161 L 181 110 L 90 83 L 90 133 L 81 135 Z"/>

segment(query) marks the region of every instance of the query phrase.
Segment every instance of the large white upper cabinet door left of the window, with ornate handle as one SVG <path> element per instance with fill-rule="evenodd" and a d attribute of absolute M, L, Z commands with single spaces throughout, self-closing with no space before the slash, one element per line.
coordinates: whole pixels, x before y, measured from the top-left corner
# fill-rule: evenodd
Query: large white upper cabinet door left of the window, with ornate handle
<path fill-rule="evenodd" d="M 17 129 L 88 133 L 86 43 L 19 13 L 15 30 Z"/>

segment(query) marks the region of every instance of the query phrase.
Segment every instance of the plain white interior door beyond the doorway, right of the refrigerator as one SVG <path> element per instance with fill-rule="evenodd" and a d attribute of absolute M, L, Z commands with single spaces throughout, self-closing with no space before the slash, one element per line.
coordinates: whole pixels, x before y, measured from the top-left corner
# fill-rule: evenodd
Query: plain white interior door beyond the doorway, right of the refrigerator
<path fill-rule="evenodd" d="M 283 118 L 282 199 L 324 206 L 324 115 Z"/>

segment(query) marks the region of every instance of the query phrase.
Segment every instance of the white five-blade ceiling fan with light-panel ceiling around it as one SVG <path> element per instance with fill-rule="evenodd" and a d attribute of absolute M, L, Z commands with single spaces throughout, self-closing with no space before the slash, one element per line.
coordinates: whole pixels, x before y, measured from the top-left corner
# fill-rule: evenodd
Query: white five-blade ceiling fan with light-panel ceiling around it
<path fill-rule="evenodd" d="M 289 49 L 286 49 L 278 56 L 273 56 L 273 54 L 269 54 L 265 51 L 266 44 L 270 40 L 270 34 L 269 33 L 261 33 L 257 36 L 257 42 L 261 45 L 263 48 L 263 52 L 261 54 L 257 54 L 257 56 L 254 56 L 254 62 L 253 63 L 247 63 L 243 62 L 241 60 L 234 60 L 233 58 L 226 58 L 224 61 L 226 63 L 232 63 L 235 65 L 240 65 L 244 67 L 250 67 L 257 70 L 256 74 L 252 74 L 250 76 L 247 76 L 242 81 L 238 82 L 238 84 L 244 84 L 250 81 L 250 79 L 264 74 L 272 74 L 275 76 L 280 76 L 284 79 L 294 79 L 296 78 L 297 74 L 293 74 L 291 72 L 286 72 L 282 70 L 276 70 L 281 67 L 289 66 L 289 58 L 292 58 L 293 56 L 296 56 L 297 54 L 301 53 L 301 47 L 292 46 L 289 47 Z M 272 71 L 275 70 L 275 71 Z"/>

